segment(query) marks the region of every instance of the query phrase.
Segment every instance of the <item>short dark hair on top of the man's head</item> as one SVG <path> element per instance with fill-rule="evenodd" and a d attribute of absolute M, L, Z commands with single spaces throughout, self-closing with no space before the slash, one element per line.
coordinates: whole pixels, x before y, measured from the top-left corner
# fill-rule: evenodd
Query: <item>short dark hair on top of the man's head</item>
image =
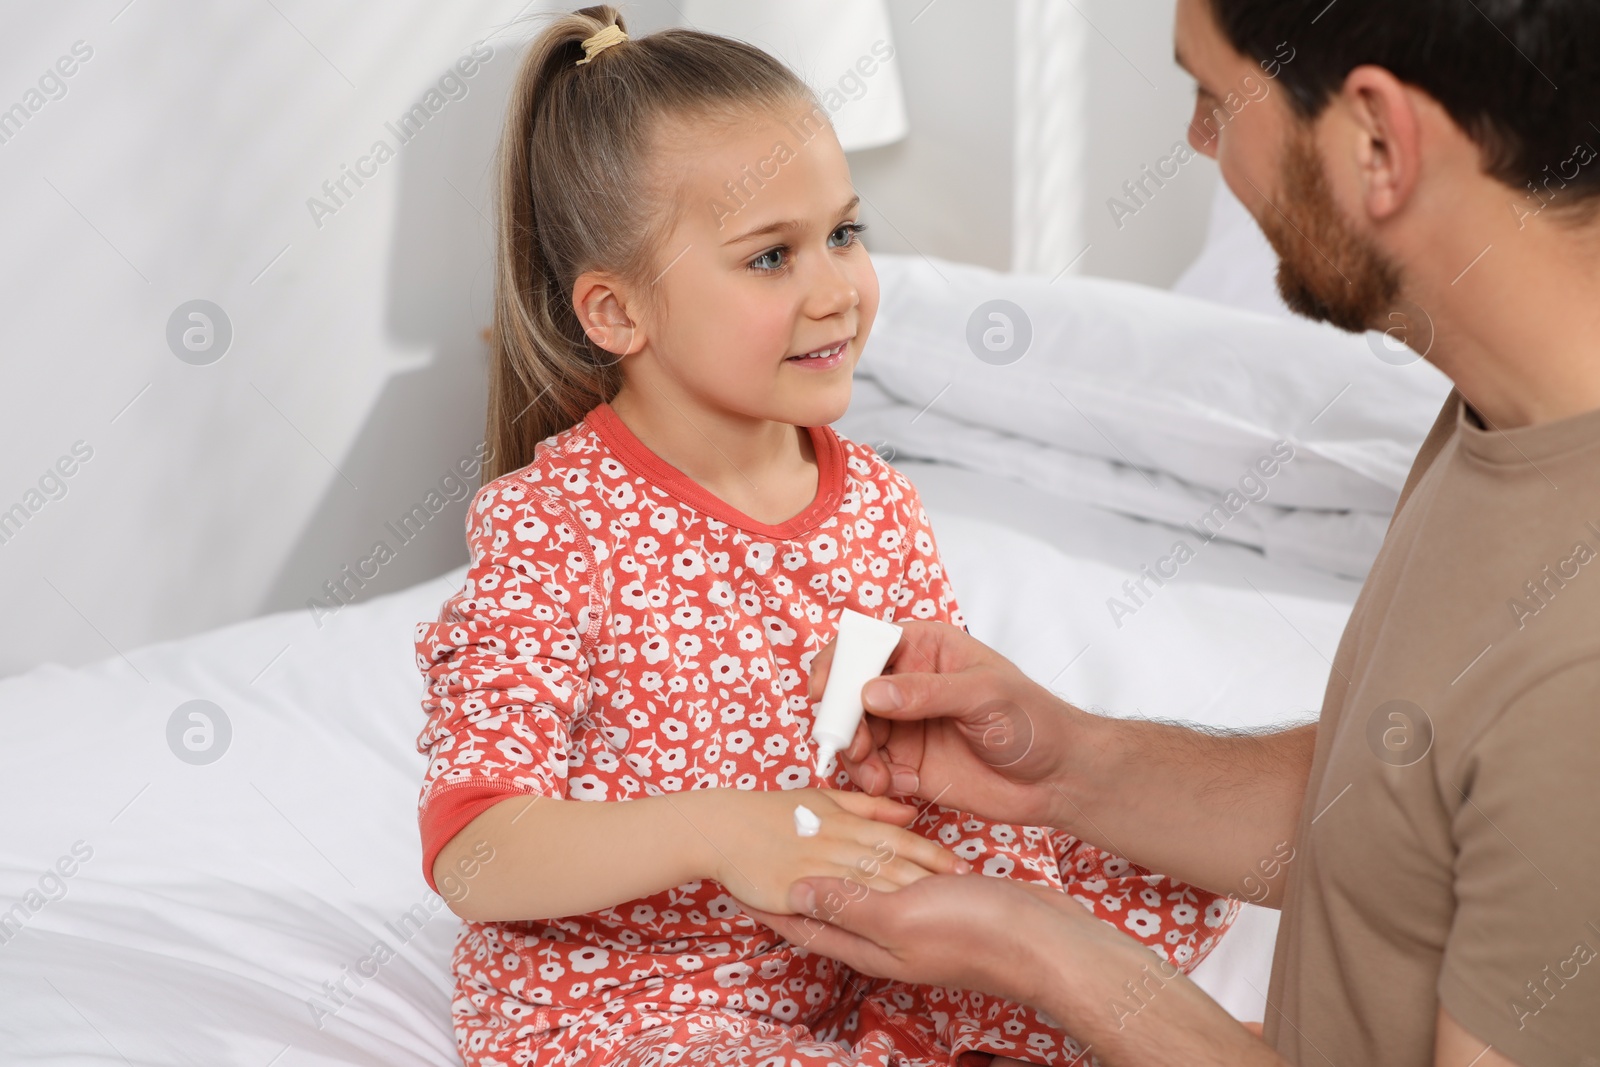
<path fill-rule="evenodd" d="M 1374 64 L 1437 99 L 1493 178 L 1546 200 L 1560 194 L 1555 203 L 1600 197 L 1597 0 L 1211 0 L 1211 10 L 1235 51 L 1278 62 L 1302 118 L 1320 115 L 1352 69 Z"/>

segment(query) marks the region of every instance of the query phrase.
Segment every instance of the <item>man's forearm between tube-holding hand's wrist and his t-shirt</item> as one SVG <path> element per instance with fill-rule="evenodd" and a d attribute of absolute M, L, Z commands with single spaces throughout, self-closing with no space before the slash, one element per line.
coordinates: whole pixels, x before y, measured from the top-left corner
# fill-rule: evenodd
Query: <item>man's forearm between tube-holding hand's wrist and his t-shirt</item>
<path fill-rule="evenodd" d="M 1277 907 L 1315 726 L 1213 734 L 1070 710 L 1054 825 L 1213 893 Z"/>

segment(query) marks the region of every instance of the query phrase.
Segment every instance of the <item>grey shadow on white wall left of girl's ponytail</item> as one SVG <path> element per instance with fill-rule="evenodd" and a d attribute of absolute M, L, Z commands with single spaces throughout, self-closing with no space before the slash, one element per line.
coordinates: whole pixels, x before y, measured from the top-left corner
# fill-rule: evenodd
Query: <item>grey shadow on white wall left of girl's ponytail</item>
<path fill-rule="evenodd" d="M 339 459 L 349 482 L 330 482 L 261 613 L 306 609 L 320 621 L 467 561 L 466 510 L 478 486 L 486 403 L 482 331 L 493 317 L 493 157 L 522 54 L 520 42 L 491 43 L 493 59 L 467 96 L 397 149 L 384 328 L 397 347 L 432 355 L 379 394 Z"/>

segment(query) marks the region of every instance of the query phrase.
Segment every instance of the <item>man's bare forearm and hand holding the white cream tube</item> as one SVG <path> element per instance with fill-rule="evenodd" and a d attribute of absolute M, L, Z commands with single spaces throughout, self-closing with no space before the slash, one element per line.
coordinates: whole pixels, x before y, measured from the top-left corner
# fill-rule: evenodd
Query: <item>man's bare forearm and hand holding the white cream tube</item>
<path fill-rule="evenodd" d="M 1173 878 L 1277 905 L 1315 728 L 1226 734 L 1090 715 L 976 638 L 907 622 L 843 753 L 866 792 L 1051 825 Z M 832 645 L 811 667 L 827 683 Z"/>

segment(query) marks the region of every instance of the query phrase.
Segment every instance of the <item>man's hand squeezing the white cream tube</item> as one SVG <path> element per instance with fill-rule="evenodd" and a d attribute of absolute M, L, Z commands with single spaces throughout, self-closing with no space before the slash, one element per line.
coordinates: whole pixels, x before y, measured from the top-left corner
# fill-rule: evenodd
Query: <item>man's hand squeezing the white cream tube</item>
<path fill-rule="evenodd" d="M 944 622 L 902 622 L 885 669 L 862 688 L 870 715 L 840 753 L 862 790 L 938 798 L 998 822 L 1061 825 L 1053 776 L 1090 717 L 1030 681 L 982 641 Z M 811 664 L 827 686 L 834 643 Z"/>

